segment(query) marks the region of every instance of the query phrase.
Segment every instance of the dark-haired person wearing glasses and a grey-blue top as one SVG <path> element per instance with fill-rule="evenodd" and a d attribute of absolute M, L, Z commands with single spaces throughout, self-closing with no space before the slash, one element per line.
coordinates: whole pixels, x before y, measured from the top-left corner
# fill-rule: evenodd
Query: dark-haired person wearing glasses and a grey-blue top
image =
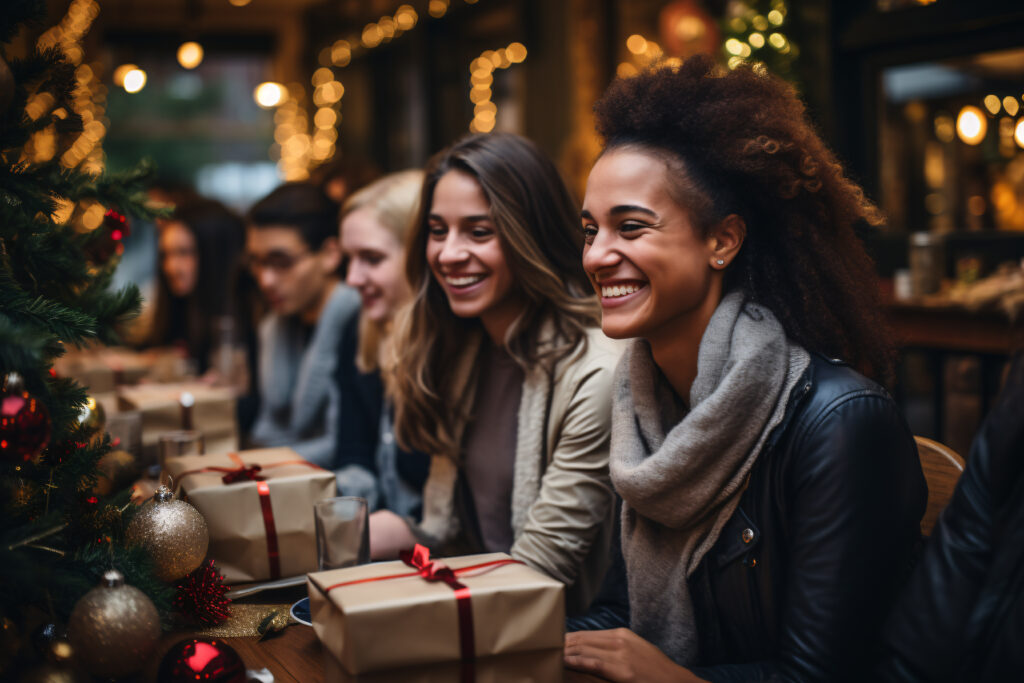
<path fill-rule="evenodd" d="M 311 183 L 290 182 L 249 212 L 246 257 L 270 312 L 260 322 L 255 446 L 288 445 L 333 469 L 346 495 L 373 486 L 359 467 L 334 467 L 340 396 L 335 382 L 344 326 L 359 298 L 341 282 L 338 206 Z"/>

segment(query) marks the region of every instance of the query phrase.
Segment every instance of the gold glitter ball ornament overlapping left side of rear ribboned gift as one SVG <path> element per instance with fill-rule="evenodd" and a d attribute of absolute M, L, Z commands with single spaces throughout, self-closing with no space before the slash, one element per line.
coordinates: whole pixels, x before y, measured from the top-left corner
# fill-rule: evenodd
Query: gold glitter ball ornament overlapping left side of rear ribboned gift
<path fill-rule="evenodd" d="M 167 486 L 157 489 L 128 524 L 129 545 L 150 551 L 161 581 L 177 581 L 193 572 L 206 557 L 210 532 L 199 510 L 175 501 Z"/>

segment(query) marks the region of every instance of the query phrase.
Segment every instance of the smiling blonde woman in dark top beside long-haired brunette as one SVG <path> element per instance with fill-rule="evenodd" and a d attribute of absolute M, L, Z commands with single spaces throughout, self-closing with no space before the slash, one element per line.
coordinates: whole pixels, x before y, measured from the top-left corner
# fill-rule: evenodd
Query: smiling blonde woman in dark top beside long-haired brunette
<path fill-rule="evenodd" d="M 358 464 L 376 473 L 376 490 L 367 493 L 371 510 L 383 508 L 417 520 L 430 461 L 395 443 L 380 371 L 389 355 L 394 313 L 411 295 L 404 240 L 422 185 L 423 171 L 392 173 L 353 194 L 341 210 L 345 282 L 359 293 L 361 307 L 355 324 L 342 333 L 335 457 L 336 467 Z"/>

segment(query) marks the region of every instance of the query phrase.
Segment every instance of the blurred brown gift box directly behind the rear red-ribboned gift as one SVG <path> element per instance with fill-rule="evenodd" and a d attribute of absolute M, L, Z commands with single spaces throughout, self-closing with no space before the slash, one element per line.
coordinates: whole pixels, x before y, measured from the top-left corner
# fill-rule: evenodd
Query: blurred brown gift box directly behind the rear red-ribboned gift
<path fill-rule="evenodd" d="M 191 408 L 182 408 L 184 394 L 191 396 Z M 200 382 L 139 384 L 118 390 L 122 411 L 142 414 L 142 454 L 150 462 L 157 460 L 160 434 L 185 428 L 187 423 L 203 433 L 206 453 L 237 451 L 239 427 L 234 402 L 231 389 Z"/>

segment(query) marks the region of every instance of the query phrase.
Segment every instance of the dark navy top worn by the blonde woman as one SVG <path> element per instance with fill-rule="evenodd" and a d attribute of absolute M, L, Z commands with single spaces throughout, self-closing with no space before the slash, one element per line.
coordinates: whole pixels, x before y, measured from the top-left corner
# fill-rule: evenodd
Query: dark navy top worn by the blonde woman
<path fill-rule="evenodd" d="M 355 353 L 359 345 L 359 316 L 353 315 L 345 325 L 338 351 L 338 370 L 335 378 L 341 393 L 338 424 L 338 443 L 334 468 L 358 465 L 378 474 L 376 454 L 380 443 L 381 414 L 384 410 L 384 384 L 380 373 L 360 372 L 355 367 Z M 394 459 L 398 477 L 409 486 L 422 490 L 430 471 L 430 459 L 419 452 L 397 449 Z M 386 500 L 378 501 L 379 509 L 389 509 Z M 419 519 L 421 510 L 413 510 Z"/>

